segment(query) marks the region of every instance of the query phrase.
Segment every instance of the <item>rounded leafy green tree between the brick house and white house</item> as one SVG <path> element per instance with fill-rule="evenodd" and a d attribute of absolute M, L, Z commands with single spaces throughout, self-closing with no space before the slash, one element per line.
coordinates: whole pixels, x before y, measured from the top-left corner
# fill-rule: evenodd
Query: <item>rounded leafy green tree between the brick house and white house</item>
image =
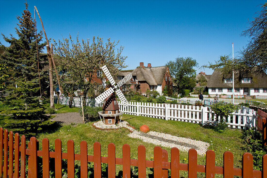
<path fill-rule="evenodd" d="M 171 76 L 174 77 L 174 82 L 177 83 L 178 93 L 182 93 L 184 89 L 194 88 L 196 70 L 198 63 L 192 57 L 177 57 L 173 61 L 168 61 L 166 64 L 170 70 Z"/>

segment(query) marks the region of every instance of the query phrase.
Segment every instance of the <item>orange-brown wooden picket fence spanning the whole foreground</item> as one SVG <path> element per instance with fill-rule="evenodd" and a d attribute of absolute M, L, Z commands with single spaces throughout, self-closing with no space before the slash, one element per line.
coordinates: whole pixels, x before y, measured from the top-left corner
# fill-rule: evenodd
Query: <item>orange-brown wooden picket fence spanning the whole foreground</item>
<path fill-rule="evenodd" d="M 101 156 L 101 145 L 95 142 L 93 145 L 93 155 L 87 154 L 87 142 L 81 141 L 80 154 L 74 154 L 74 142 L 67 142 L 67 153 L 62 153 L 61 140 L 55 140 L 55 151 L 49 152 L 49 140 L 42 140 L 42 150 L 38 150 L 38 141 L 35 137 L 30 138 L 28 148 L 26 148 L 25 136 L 19 138 L 19 134 L 8 133 L 7 129 L 0 128 L 0 177 L 36 178 L 37 157 L 42 157 L 42 176 L 49 177 L 49 158 L 55 158 L 55 178 L 62 177 L 62 159 L 67 159 L 68 178 L 74 178 L 74 160 L 80 161 L 81 177 L 87 177 L 88 162 L 94 162 L 94 177 L 101 177 L 101 163 L 108 164 L 108 177 L 115 178 L 115 166 L 120 164 L 123 167 L 123 178 L 131 176 L 130 166 L 138 166 L 138 177 L 146 177 L 146 167 L 154 168 L 154 177 L 167 177 L 168 170 L 171 169 L 171 177 L 179 177 L 179 171 L 188 171 L 189 178 L 197 177 L 197 172 L 205 172 L 206 178 L 214 178 L 215 174 L 222 174 L 225 178 L 243 176 L 243 178 L 265 178 L 267 177 L 267 154 L 262 156 L 262 171 L 253 170 L 253 157 L 250 153 L 244 153 L 242 157 L 242 169 L 234 168 L 233 153 L 226 151 L 223 154 L 223 167 L 215 166 L 215 153 L 213 150 L 206 152 L 206 165 L 197 164 L 197 151 L 189 150 L 188 164 L 179 162 L 179 149 L 171 149 L 171 162 L 168 162 L 168 153 L 159 146 L 154 148 L 154 161 L 146 160 L 146 148 L 138 146 L 138 160 L 130 158 L 130 146 L 123 145 L 122 158 L 115 157 L 115 145 L 108 145 L 108 157 Z M 21 140 L 19 142 L 19 140 Z M 29 156 L 28 172 L 26 172 L 26 155 Z M 14 164 L 14 165 L 13 165 Z"/>

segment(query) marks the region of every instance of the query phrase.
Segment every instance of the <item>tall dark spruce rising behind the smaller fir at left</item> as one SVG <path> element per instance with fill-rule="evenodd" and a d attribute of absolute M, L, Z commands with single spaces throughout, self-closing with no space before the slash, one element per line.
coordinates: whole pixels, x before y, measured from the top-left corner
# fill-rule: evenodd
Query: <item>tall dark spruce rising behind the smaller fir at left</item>
<path fill-rule="evenodd" d="M 4 40 L 10 43 L 10 47 L 5 47 L 1 44 L 1 48 L 5 50 L 3 55 L 0 55 L 2 64 L 9 68 L 10 86 L 15 86 L 18 81 L 32 81 L 35 87 L 39 86 L 38 67 L 37 67 L 37 50 L 36 50 L 36 35 L 35 26 L 32 14 L 28 10 L 28 4 L 25 3 L 26 10 L 22 16 L 17 16 L 19 21 L 18 28 L 15 27 L 18 39 L 10 34 L 11 38 L 2 34 Z M 41 43 L 42 31 L 37 33 L 38 52 L 42 52 L 46 43 Z M 41 87 L 43 90 L 47 88 L 48 72 L 44 71 L 44 66 L 47 65 L 45 55 L 39 54 L 39 65 L 41 75 Z M 10 89 L 10 87 L 9 87 Z M 36 93 L 38 95 L 38 92 Z M 40 95 L 40 92 L 39 92 Z"/>

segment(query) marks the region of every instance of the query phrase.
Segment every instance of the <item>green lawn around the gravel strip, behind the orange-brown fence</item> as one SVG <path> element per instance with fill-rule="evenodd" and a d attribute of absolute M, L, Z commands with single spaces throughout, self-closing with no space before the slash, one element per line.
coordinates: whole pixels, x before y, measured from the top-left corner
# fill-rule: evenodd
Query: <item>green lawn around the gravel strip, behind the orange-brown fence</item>
<path fill-rule="evenodd" d="M 244 151 L 241 149 L 243 145 L 242 131 L 238 129 L 227 129 L 223 133 L 218 133 L 208 127 L 202 127 L 196 123 L 188 123 L 181 121 L 165 121 L 163 119 L 148 118 L 143 116 L 123 115 L 123 120 L 130 123 L 139 130 L 139 127 L 146 124 L 152 131 L 158 131 L 162 133 L 168 133 L 171 135 L 191 138 L 194 140 L 200 140 L 208 142 L 210 144 L 209 149 L 214 150 L 216 155 L 216 166 L 223 166 L 223 152 L 231 151 L 234 154 L 234 167 L 241 168 L 242 154 Z M 129 144 L 131 147 L 131 158 L 136 159 L 137 148 L 139 145 L 146 147 L 146 159 L 153 160 L 154 147 L 160 145 L 154 145 L 143 142 L 139 139 L 130 138 L 127 135 L 129 130 L 121 128 L 119 130 L 108 130 L 103 131 L 95 129 L 92 126 L 92 122 L 85 124 L 78 124 L 76 126 L 68 125 L 62 126 L 60 129 L 51 133 L 43 133 L 38 136 L 41 142 L 43 138 L 50 140 L 50 145 L 54 145 L 54 140 L 60 138 L 62 141 L 62 150 L 66 152 L 67 141 L 72 139 L 74 141 L 75 153 L 80 153 L 80 142 L 85 140 L 88 144 L 88 154 L 93 155 L 93 143 L 95 141 L 101 144 L 101 155 L 107 156 L 107 147 L 109 143 L 116 145 L 116 157 L 122 158 L 122 146 L 123 144 Z M 168 158 L 170 161 L 170 150 L 171 148 L 162 147 L 168 152 Z M 186 159 L 186 160 L 184 160 Z M 180 150 L 180 162 L 188 163 L 188 152 Z M 198 155 L 198 164 L 205 165 L 205 155 Z M 118 169 L 120 166 L 118 166 Z M 122 167 L 121 169 L 122 170 Z M 182 173 L 187 176 L 187 172 Z M 201 174 L 201 173 L 200 173 Z"/>

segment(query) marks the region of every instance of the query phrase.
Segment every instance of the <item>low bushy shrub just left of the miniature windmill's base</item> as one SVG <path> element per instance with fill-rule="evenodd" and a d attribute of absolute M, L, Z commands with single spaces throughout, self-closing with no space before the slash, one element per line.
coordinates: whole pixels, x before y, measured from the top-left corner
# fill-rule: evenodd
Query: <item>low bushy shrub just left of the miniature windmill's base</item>
<path fill-rule="evenodd" d="M 80 116 L 83 116 L 82 108 L 79 110 Z M 84 106 L 84 120 L 85 122 L 98 121 L 99 114 L 98 111 L 102 111 L 102 107 L 90 107 Z"/>

